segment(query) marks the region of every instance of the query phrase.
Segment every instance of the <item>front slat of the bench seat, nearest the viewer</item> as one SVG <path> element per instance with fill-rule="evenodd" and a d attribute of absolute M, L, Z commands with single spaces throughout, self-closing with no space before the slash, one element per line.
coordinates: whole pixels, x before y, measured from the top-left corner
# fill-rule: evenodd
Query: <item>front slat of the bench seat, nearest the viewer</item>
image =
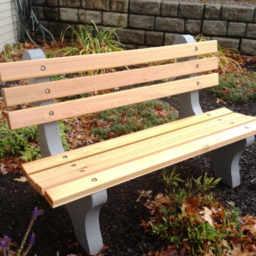
<path fill-rule="evenodd" d="M 141 159 L 101 171 L 99 175 L 89 175 L 81 179 L 47 189 L 45 198 L 52 207 L 69 203 L 86 195 L 91 195 L 108 187 L 134 179 L 157 169 L 181 162 L 190 157 L 206 153 L 224 145 L 239 141 L 255 134 L 256 121 L 245 127 L 235 127 L 196 141 L 189 141 L 171 149 L 149 154 Z M 97 179 L 93 182 L 92 179 Z"/>

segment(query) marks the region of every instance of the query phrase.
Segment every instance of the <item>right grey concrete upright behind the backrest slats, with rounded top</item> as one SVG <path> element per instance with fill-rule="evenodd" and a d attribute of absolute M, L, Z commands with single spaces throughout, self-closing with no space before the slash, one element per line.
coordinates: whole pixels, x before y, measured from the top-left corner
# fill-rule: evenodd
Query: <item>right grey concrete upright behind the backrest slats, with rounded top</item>
<path fill-rule="evenodd" d="M 195 43 L 195 39 L 191 35 L 179 35 L 179 37 L 175 38 L 173 45 L 179 45 L 181 43 Z M 192 61 L 194 59 L 196 59 L 196 57 L 181 58 L 177 59 L 177 61 Z M 183 77 L 179 77 L 179 79 L 196 76 L 197 74 L 185 75 Z M 182 93 L 179 95 L 179 119 L 201 113 L 203 113 L 203 111 L 200 107 L 198 91 L 191 91 L 189 93 Z"/>

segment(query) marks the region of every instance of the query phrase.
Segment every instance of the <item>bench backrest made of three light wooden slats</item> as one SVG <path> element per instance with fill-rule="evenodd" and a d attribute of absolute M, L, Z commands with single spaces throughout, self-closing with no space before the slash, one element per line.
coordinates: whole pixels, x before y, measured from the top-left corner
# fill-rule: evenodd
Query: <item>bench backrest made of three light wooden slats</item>
<path fill-rule="evenodd" d="M 33 79 L 51 75 L 187 58 L 215 52 L 217 52 L 217 41 L 205 41 L 97 55 L 1 63 L 0 79 L 1 81 Z M 101 75 L 77 77 L 75 79 L 48 81 L 46 83 L 5 88 L 2 89 L 2 92 L 6 106 L 20 105 L 23 103 L 47 101 L 68 95 L 77 95 L 80 93 L 89 93 L 92 91 L 157 81 L 170 77 L 184 77 L 217 68 L 217 57 L 210 57 L 167 65 L 147 66 L 139 69 L 117 71 Z M 195 91 L 217 84 L 217 73 L 195 77 L 192 75 L 187 79 L 179 79 L 167 83 L 160 82 L 147 87 L 127 89 L 83 99 L 10 111 L 7 113 L 7 119 L 9 128 L 17 129 L 29 125 L 39 125 L 77 115 L 85 115 L 87 113 L 121 107 L 123 105 L 149 101 L 151 99 L 177 95 L 188 91 Z"/>

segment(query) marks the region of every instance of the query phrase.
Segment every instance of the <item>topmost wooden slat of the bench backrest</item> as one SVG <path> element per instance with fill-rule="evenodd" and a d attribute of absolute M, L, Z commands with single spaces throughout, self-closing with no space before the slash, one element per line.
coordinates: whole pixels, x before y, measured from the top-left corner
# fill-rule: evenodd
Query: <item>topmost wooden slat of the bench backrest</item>
<path fill-rule="evenodd" d="M 217 52 L 217 41 L 205 41 L 113 53 L 1 63 L 0 80 L 12 81 L 33 77 L 47 77 L 50 75 L 122 67 L 214 52 Z M 45 71 L 41 71 L 42 65 L 45 67 Z"/>

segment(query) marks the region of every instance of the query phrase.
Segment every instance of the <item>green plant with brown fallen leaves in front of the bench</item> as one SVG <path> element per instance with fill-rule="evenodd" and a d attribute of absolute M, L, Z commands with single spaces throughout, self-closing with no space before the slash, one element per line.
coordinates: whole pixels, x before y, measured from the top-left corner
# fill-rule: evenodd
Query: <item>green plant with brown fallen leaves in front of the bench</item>
<path fill-rule="evenodd" d="M 222 255 L 230 251 L 229 239 L 241 238 L 237 208 L 224 208 L 213 198 L 211 189 L 219 179 L 205 175 L 198 179 L 187 179 L 183 183 L 179 175 L 163 169 L 163 181 L 167 195 L 158 194 L 145 205 L 154 215 L 143 226 L 152 235 L 157 235 L 169 245 L 189 248 L 189 255 Z"/>

